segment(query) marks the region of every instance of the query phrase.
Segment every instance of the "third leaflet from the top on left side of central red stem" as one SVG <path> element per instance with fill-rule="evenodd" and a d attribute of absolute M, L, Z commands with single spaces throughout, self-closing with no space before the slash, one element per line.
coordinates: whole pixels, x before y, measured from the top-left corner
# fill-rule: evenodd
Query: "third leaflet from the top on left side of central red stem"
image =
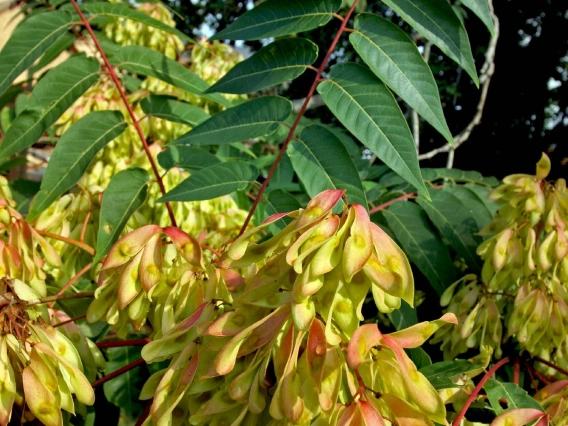
<path fill-rule="evenodd" d="M 262 96 L 214 115 L 171 145 L 221 145 L 264 136 L 275 131 L 291 112 L 289 100 Z"/>

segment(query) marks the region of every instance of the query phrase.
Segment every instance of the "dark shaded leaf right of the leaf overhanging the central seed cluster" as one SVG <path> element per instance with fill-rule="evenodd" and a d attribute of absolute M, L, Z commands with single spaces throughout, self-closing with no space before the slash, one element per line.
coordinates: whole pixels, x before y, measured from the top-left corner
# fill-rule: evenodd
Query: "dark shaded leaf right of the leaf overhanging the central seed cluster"
<path fill-rule="evenodd" d="M 473 235 L 476 224 L 467 208 L 447 191 L 432 190 L 430 195 L 432 201 L 419 197 L 418 204 L 426 211 L 440 234 L 448 240 L 458 255 L 465 259 L 467 265 L 479 268 L 476 249 L 480 238 Z"/>

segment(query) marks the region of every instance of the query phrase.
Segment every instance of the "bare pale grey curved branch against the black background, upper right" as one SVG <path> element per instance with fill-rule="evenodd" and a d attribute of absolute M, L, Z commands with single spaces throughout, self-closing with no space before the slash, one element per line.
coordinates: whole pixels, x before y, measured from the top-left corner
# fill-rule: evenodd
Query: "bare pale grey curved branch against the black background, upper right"
<path fill-rule="evenodd" d="M 442 152 L 450 152 L 456 150 L 460 145 L 462 145 L 469 139 L 473 129 L 479 123 L 481 123 L 481 118 L 483 117 L 483 109 L 485 108 L 485 102 L 487 101 L 489 83 L 491 82 L 491 77 L 493 77 L 493 74 L 495 73 L 495 50 L 497 48 L 497 40 L 499 39 L 499 19 L 497 18 L 497 15 L 495 15 L 492 1 L 489 1 L 489 7 L 491 9 L 491 16 L 493 17 L 493 22 L 495 24 L 495 36 L 491 38 L 491 41 L 487 46 L 487 52 L 485 52 L 485 62 L 481 67 L 481 75 L 479 76 L 479 82 L 481 83 L 481 97 L 479 98 L 479 103 L 477 104 L 477 111 L 467 127 L 454 137 L 455 147 L 453 147 L 449 143 L 446 143 L 440 148 L 436 148 L 430 152 L 420 154 L 418 156 L 419 160 L 429 160 Z"/>

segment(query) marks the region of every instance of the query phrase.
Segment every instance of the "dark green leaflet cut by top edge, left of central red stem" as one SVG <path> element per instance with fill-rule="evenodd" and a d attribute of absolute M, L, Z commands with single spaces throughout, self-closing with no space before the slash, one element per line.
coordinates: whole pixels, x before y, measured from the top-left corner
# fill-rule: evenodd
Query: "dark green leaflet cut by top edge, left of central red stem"
<path fill-rule="evenodd" d="M 212 40 L 260 40 L 312 30 L 325 25 L 341 0 L 267 0 L 219 31 Z"/>

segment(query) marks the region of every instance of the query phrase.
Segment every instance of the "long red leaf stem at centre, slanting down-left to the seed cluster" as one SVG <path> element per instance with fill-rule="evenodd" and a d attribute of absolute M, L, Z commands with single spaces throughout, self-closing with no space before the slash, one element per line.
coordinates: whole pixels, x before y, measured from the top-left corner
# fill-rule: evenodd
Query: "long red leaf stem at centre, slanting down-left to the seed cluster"
<path fill-rule="evenodd" d="M 75 0 L 71 0 L 71 1 L 74 2 Z M 314 82 L 312 83 L 312 87 L 310 88 L 310 91 L 308 92 L 308 95 L 306 96 L 306 100 L 304 101 L 302 108 L 300 108 L 300 111 L 298 112 L 298 115 L 296 116 L 296 120 L 294 120 L 294 124 L 292 124 L 292 127 L 290 128 L 290 132 L 288 133 L 286 140 L 282 144 L 282 148 L 280 148 L 280 152 L 278 153 L 276 160 L 272 164 L 272 167 L 270 168 L 268 175 L 266 176 L 266 179 L 264 180 L 264 182 L 262 183 L 262 186 L 258 190 L 258 194 L 256 195 L 256 199 L 254 200 L 254 202 L 252 204 L 252 207 L 249 211 L 249 214 L 248 214 L 248 216 L 245 220 L 245 223 L 243 223 L 243 226 L 241 227 L 241 230 L 239 232 L 239 236 L 241 236 L 243 234 L 243 232 L 245 232 L 245 229 L 247 229 L 247 226 L 248 226 L 248 224 L 249 224 L 249 222 L 252 218 L 252 215 L 254 214 L 256 208 L 258 207 L 258 203 L 260 203 L 260 200 L 262 199 L 262 194 L 264 193 L 264 190 L 268 186 L 270 179 L 272 179 L 272 175 L 276 171 L 276 168 L 278 167 L 280 160 L 282 160 L 282 156 L 286 152 L 286 148 L 288 147 L 288 144 L 290 143 L 290 141 L 292 140 L 292 137 L 294 136 L 294 132 L 296 131 L 296 127 L 298 127 L 300 120 L 302 119 L 304 113 L 306 112 L 306 109 L 308 108 L 308 104 L 310 103 L 310 100 L 312 99 L 312 96 L 314 95 L 314 92 L 316 91 L 316 87 L 317 87 L 318 83 L 320 82 L 320 78 L 321 78 L 321 75 L 323 74 L 323 70 L 325 69 L 327 63 L 329 62 L 329 58 L 331 57 L 331 54 L 335 50 L 335 46 L 337 46 L 337 42 L 339 41 L 341 34 L 343 34 L 343 32 L 345 31 L 347 21 L 349 21 L 349 17 L 351 16 L 353 11 L 355 10 L 355 7 L 357 6 L 358 2 L 359 2 L 359 0 L 353 1 L 353 4 L 349 8 L 349 11 L 345 15 L 345 18 L 343 18 L 343 22 L 341 22 L 341 26 L 339 27 L 339 30 L 337 31 L 337 34 L 335 35 L 335 38 L 333 39 L 331 46 L 329 46 L 329 49 L 327 50 L 327 53 L 326 53 L 325 57 L 323 58 L 323 61 L 320 65 L 320 67 L 318 68 L 318 72 L 316 73 L 316 76 L 314 78 Z"/>

